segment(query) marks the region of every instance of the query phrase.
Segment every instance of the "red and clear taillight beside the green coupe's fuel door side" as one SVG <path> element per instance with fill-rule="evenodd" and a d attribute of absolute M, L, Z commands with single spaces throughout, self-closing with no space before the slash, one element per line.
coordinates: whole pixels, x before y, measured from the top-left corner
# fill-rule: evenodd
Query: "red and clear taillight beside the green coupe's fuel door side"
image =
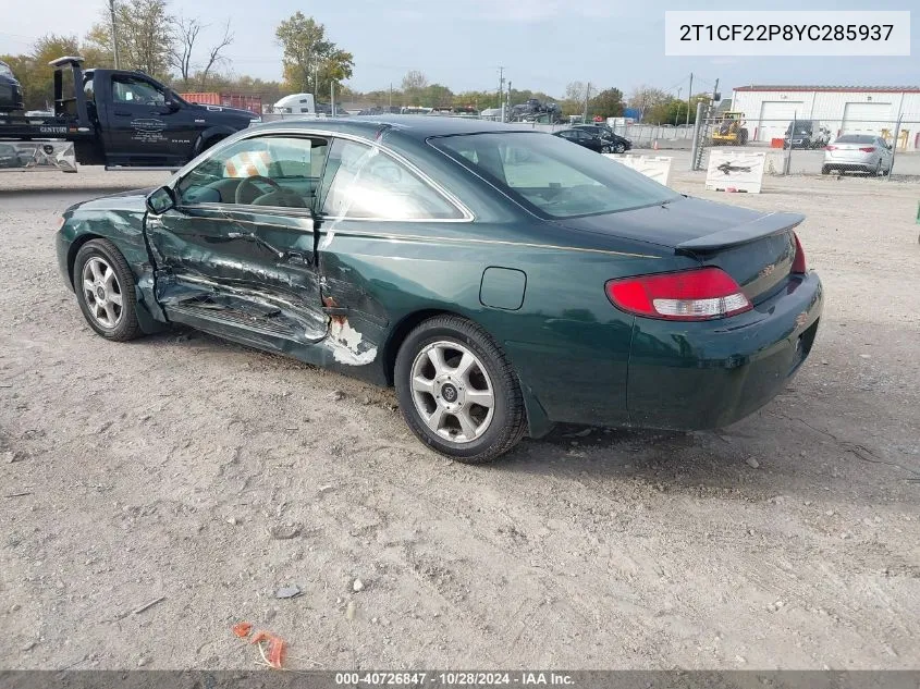
<path fill-rule="evenodd" d="M 674 321 L 704 321 L 749 311 L 738 283 L 719 268 L 611 280 L 606 294 L 627 313 Z"/>

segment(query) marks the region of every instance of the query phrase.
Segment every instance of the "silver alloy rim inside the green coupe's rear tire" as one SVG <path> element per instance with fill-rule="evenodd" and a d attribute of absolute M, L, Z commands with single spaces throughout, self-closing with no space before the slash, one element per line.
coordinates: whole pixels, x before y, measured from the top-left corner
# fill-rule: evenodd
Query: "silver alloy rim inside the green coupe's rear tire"
<path fill-rule="evenodd" d="M 468 443 L 492 422 L 495 393 L 479 358 L 456 342 L 425 346 L 412 366 L 412 396 L 428 428 L 453 443 Z"/>

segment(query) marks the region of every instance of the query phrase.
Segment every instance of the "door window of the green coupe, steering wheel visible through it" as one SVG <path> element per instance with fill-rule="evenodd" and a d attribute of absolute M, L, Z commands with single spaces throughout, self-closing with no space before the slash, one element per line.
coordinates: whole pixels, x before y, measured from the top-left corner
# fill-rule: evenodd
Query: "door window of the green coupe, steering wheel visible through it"
<path fill-rule="evenodd" d="M 326 139 L 294 136 L 236 142 L 182 179 L 179 202 L 312 208 L 328 148 Z"/>

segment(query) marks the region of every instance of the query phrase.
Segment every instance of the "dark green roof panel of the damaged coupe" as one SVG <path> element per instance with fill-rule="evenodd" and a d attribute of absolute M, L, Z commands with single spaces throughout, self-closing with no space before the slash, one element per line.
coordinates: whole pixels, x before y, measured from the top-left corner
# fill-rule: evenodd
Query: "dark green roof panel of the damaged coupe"
<path fill-rule="evenodd" d="M 291 118 L 265 122 L 252 128 L 310 130 L 312 132 L 342 132 L 375 138 L 378 132 L 389 130 L 418 140 L 431 136 L 481 134 L 488 132 L 532 132 L 532 127 L 513 126 L 489 120 L 451 118 L 445 115 L 372 114 L 349 118 Z"/>

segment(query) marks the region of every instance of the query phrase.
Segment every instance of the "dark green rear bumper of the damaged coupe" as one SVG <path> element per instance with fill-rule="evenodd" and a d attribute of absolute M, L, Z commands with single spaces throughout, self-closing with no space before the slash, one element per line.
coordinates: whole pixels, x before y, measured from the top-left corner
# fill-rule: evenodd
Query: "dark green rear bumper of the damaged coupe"
<path fill-rule="evenodd" d="M 637 318 L 627 383 L 630 425 L 702 430 L 750 415 L 775 397 L 808 357 L 822 308 L 821 281 L 808 273 L 724 321 Z"/>

